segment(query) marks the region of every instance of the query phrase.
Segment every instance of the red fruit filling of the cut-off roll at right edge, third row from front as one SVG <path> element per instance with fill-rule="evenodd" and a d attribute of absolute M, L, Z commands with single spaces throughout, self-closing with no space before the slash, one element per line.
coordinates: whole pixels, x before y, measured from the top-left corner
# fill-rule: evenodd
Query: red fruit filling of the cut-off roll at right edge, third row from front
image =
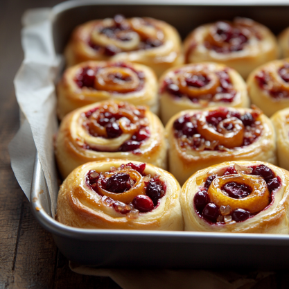
<path fill-rule="evenodd" d="M 277 70 L 277 74 L 279 77 L 263 69 L 256 74 L 255 80 L 259 87 L 267 91 L 272 98 L 288 98 L 289 63 L 285 62 L 283 66 Z"/>

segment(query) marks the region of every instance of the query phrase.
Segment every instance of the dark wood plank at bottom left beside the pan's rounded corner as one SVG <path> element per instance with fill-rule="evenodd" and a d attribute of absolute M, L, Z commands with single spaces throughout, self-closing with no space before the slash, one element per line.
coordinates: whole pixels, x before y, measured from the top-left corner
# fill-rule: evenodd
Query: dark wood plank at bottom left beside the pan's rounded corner
<path fill-rule="evenodd" d="M 51 234 L 35 220 L 30 203 L 24 196 L 13 285 L 16 288 L 53 288 L 57 252 Z"/>

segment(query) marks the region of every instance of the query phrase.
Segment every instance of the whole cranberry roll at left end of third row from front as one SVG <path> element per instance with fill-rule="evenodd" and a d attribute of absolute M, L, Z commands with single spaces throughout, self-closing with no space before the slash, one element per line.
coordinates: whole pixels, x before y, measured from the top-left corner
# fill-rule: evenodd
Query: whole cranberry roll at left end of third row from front
<path fill-rule="evenodd" d="M 157 78 L 149 67 L 124 62 L 83 62 L 64 71 L 58 83 L 58 116 L 103 100 L 148 105 L 157 113 Z"/>

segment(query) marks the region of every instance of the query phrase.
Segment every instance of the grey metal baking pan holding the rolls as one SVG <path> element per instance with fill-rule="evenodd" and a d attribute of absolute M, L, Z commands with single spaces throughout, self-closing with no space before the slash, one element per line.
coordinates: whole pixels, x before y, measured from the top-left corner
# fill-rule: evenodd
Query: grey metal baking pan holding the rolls
<path fill-rule="evenodd" d="M 62 53 L 73 28 L 90 19 L 149 16 L 172 24 L 185 37 L 193 28 L 218 19 L 249 17 L 279 33 L 289 26 L 289 6 L 276 3 L 220 5 L 149 2 L 76 2 L 53 8 L 55 51 Z M 51 140 L 52 141 L 52 140 Z M 185 231 L 130 231 L 78 229 L 51 217 L 46 182 L 38 156 L 31 186 L 35 218 L 53 234 L 56 245 L 69 260 L 102 268 L 245 268 L 277 270 L 289 268 L 289 236 L 227 234 Z"/>

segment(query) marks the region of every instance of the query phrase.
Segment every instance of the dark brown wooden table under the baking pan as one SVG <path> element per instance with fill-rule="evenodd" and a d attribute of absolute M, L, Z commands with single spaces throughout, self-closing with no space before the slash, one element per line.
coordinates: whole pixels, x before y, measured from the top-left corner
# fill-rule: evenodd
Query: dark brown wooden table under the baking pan
<path fill-rule="evenodd" d="M 19 128 L 12 80 L 21 64 L 21 15 L 28 8 L 51 7 L 59 0 L 0 0 L 0 289 L 120 288 L 107 277 L 71 272 L 49 232 L 33 217 L 10 168 L 8 143 Z M 220 268 L 221 269 L 221 268 Z M 260 281 L 257 288 L 289 288 L 287 272 Z"/>

